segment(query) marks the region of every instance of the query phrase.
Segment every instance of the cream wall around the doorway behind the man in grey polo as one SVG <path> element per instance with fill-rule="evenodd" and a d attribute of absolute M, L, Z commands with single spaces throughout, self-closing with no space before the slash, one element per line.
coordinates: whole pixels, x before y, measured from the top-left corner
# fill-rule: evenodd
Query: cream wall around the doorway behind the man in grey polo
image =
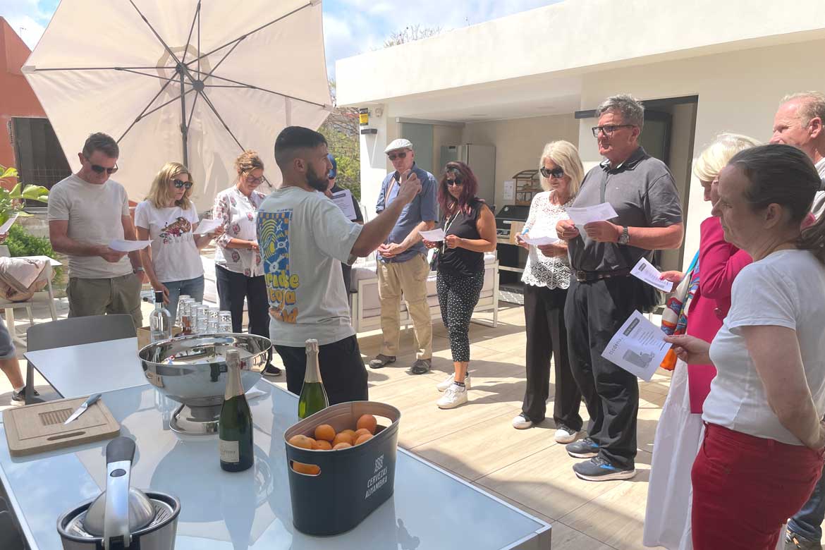
<path fill-rule="evenodd" d="M 767 141 L 780 98 L 790 92 L 825 90 L 825 80 L 813 64 L 825 51 L 825 40 L 651 63 L 587 74 L 582 110 L 593 109 L 607 96 L 631 93 L 640 99 L 698 95 L 693 157 L 717 134 L 736 132 Z M 582 120 L 579 140 L 582 160 L 599 160 L 590 133 L 592 120 Z M 586 164 L 587 167 L 587 164 Z M 699 247 L 699 225 L 710 214 L 702 189 L 691 181 L 683 265 Z"/>

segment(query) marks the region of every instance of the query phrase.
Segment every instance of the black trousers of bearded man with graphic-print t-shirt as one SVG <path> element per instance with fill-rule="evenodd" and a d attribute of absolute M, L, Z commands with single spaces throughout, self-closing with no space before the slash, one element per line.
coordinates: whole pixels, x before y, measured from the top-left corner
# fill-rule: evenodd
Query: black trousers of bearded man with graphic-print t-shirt
<path fill-rule="evenodd" d="M 286 368 L 286 389 L 300 395 L 307 369 L 304 347 L 275 346 Z M 366 369 L 361 360 L 356 336 L 318 346 L 321 380 L 330 405 L 348 401 L 367 401 Z"/>

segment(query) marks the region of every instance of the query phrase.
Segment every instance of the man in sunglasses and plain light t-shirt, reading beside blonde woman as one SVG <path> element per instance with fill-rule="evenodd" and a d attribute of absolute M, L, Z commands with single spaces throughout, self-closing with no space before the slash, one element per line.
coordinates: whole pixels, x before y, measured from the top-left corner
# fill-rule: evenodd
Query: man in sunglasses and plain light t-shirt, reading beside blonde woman
<path fill-rule="evenodd" d="M 129 313 L 140 327 L 144 267 L 139 251 L 115 251 L 112 239 L 134 241 L 126 190 L 109 179 L 120 150 L 106 134 L 92 134 L 78 153 L 80 170 L 49 193 L 49 237 L 68 256 L 68 316 Z"/>

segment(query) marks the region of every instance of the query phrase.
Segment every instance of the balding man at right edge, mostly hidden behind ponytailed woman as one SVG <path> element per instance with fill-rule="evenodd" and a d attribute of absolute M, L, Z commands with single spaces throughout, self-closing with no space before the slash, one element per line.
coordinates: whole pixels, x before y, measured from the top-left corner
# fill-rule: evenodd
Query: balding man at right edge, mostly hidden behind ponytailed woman
<path fill-rule="evenodd" d="M 825 94 L 797 92 L 782 98 L 774 115 L 771 143 L 785 143 L 804 151 L 825 182 Z M 825 190 L 813 198 L 811 212 L 817 218 L 825 211 Z M 823 472 L 825 473 L 825 472 Z M 819 478 L 811 497 L 788 521 L 785 550 L 820 548 L 825 519 L 825 476 Z"/>

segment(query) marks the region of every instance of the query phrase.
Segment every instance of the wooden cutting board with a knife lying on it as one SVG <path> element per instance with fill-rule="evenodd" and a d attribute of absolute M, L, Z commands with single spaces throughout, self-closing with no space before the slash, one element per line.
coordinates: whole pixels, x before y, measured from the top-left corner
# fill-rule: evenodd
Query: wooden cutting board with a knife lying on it
<path fill-rule="evenodd" d="M 45 453 L 74 445 L 106 440 L 120 434 L 120 424 L 102 399 L 68 425 L 64 421 L 87 397 L 60 399 L 14 407 L 2 412 L 12 456 Z"/>

